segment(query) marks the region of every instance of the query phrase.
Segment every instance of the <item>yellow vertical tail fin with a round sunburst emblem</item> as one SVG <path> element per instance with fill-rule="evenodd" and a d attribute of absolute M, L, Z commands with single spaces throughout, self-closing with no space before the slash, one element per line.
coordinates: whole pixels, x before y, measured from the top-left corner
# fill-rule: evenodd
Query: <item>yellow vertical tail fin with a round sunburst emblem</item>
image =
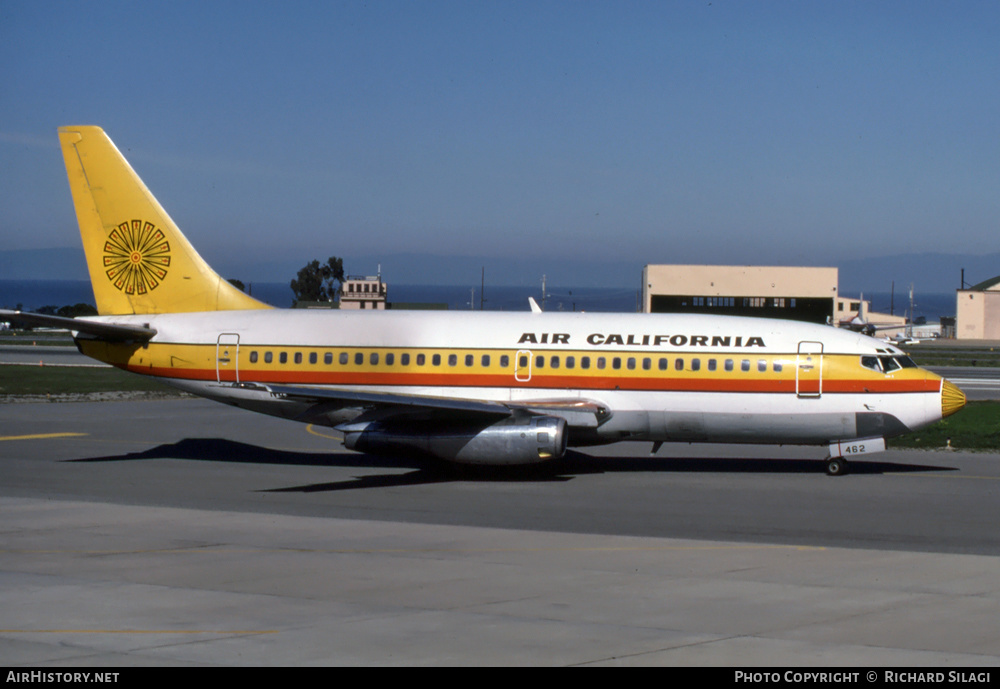
<path fill-rule="evenodd" d="M 219 277 L 100 127 L 59 142 L 102 315 L 267 309 Z"/>

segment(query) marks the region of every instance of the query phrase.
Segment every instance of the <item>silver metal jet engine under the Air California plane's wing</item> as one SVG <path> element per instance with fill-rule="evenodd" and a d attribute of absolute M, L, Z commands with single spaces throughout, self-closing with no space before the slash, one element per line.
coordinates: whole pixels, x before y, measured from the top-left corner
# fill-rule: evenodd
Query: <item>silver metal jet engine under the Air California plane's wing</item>
<path fill-rule="evenodd" d="M 510 417 L 490 425 L 374 421 L 341 427 L 351 450 L 388 454 L 419 450 L 460 464 L 537 464 L 566 452 L 566 420 Z"/>

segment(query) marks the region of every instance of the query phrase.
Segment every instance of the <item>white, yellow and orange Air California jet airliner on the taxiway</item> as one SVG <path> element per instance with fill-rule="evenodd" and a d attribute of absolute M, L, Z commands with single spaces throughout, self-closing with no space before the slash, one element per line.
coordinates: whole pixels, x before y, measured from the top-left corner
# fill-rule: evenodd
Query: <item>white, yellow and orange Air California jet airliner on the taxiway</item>
<path fill-rule="evenodd" d="M 522 465 L 618 441 L 826 446 L 826 471 L 957 412 L 904 352 L 803 322 L 699 314 L 275 309 L 223 280 L 102 129 L 59 129 L 98 316 L 84 354 L 352 450 Z"/>

